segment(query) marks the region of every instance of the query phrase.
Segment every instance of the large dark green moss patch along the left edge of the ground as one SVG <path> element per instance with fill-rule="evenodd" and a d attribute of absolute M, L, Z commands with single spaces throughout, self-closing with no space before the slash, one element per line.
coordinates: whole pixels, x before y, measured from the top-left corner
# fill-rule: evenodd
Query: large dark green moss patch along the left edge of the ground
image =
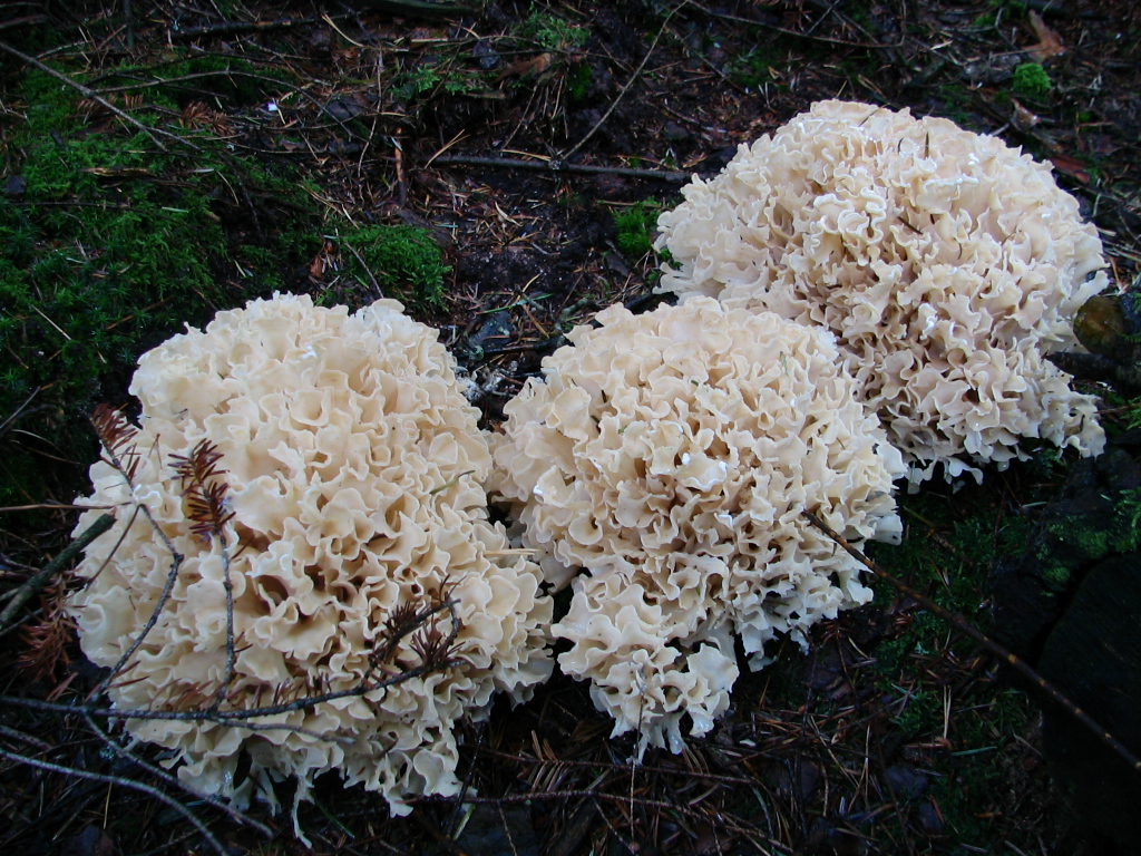
<path fill-rule="evenodd" d="M 183 158 L 122 124 L 94 130 L 75 90 L 42 72 L 19 94 L 25 121 L 5 143 L 24 186 L 0 197 L 0 421 L 34 393 L 19 427 L 83 460 L 86 413 L 122 399 L 138 356 L 285 285 L 316 249 L 318 212 L 296 176 L 209 136 Z M 42 495 L 40 459 L 22 454 L 5 449 L 0 503 Z"/>

